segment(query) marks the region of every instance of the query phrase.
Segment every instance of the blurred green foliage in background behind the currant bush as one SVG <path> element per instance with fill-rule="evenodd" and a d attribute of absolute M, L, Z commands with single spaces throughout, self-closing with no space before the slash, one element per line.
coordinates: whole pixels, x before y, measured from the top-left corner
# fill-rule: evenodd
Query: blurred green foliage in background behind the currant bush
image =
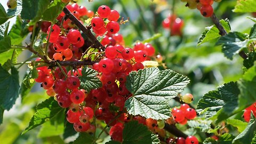
<path fill-rule="evenodd" d="M 6 0 L 1 1 L 1 4 L 6 6 Z M 161 52 L 167 68 L 190 78 L 191 82 L 183 93 L 189 92 L 194 95 L 194 106 L 206 92 L 215 90 L 218 85 L 223 83 L 237 81 L 243 74 L 242 58 L 236 55 L 233 61 L 228 60 L 221 52 L 221 47 L 215 46 L 215 41 L 197 47 L 198 39 L 204 28 L 213 23 L 210 18 L 202 17 L 198 10 L 188 9 L 185 7 L 186 3 L 179 0 L 94 0 L 93 2 L 80 0 L 78 4 L 84 5 L 88 10 L 94 12 L 100 5 L 108 5 L 111 9 L 117 10 L 121 14 L 121 18 L 129 17 L 130 21 L 122 25 L 119 31 L 128 47 L 132 47 L 135 42 L 143 41 L 154 34 L 161 34 L 161 37 L 150 43 L 155 46 L 157 53 Z M 253 22 L 246 17 L 251 15 L 233 13 L 235 4 L 235 0 L 214 3 L 214 12 L 219 19 L 229 19 L 231 31 L 249 33 Z M 184 21 L 181 37 L 170 37 L 170 31 L 162 27 L 163 19 L 172 12 Z M 15 18 L 11 21 L 14 22 Z M 26 53 L 22 53 L 19 61 L 26 59 L 26 55 Z M 20 78 L 23 77 L 26 69 L 26 66 L 23 67 Z M 74 140 L 75 138 L 62 139 L 63 127 L 48 129 L 53 132 L 50 137 L 47 135 L 45 137 L 41 134 L 42 131 L 45 131 L 44 127 L 47 127 L 45 124 L 21 135 L 35 113 L 35 106 L 46 98 L 45 92 L 39 88 L 39 85 L 35 85 L 33 92 L 30 92 L 22 103 L 21 99 L 17 99 L 15 106 L 4 113 L 4 121 L 0 125 L 0 143 L 68 143 Z M 171 101 L 170 105 L 178 106 L 178 103 Z M 43 129 L 41 129 L 42 127 Z M 186 131 L 186 133 L 193 134 L 194 132 Z M 102 138 L 104 137 L 106 135 L 102 135 Z M 108 140 L 109 137 L 105 139 L 105 141 Z"/>

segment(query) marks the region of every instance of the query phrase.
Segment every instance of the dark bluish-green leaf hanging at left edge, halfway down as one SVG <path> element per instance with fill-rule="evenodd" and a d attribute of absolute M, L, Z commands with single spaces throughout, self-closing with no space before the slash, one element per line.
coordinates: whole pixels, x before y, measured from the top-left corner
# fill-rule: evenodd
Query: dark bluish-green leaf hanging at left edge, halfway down
<path fill-rule="evenodd" d="M 18 98 L 20 85 L 17 69 L 11 68 L 11 74 L 0 65 L 0 122 L 3 119 L 3 110 L 10 110 Z"/>

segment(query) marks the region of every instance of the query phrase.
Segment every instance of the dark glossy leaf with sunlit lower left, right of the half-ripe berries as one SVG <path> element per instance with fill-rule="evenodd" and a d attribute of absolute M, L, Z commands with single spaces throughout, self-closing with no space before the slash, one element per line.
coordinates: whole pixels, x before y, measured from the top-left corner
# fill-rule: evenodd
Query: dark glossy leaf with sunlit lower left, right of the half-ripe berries
<path fill-rule="evenodd" d="M 199 114 L 205 113 L 206 118 L 218 118 L 218 122 L 225 120 L 237 108 L 239 93 L 237 83 L 223 84 L 218 87 L 218 91 L 206 93 L 199 100 L 197 111 Z"/>

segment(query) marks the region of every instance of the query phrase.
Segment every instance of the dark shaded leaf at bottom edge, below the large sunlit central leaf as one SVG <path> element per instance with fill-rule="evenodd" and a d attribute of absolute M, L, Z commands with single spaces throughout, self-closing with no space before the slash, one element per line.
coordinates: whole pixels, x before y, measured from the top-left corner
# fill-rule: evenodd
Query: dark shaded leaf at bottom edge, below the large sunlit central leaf
<path fill-rule="evenodd" d="M 124 126 L 123 144 L 151 144 L 159 142 L 159 139 L 148 130 L 147 126 L 139 124 L 138 121 L 130 121 Z"/>

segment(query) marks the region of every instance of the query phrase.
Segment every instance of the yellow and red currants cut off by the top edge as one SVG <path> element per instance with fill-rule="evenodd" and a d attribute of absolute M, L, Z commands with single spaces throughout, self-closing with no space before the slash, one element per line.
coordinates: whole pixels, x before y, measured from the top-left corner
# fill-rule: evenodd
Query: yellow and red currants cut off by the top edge
<path fill-rule="evenodd" d="M 189 9 L 197 9 L 204 17 L 211 17 L 213 14 L 212 4 L 213 1 L 220 2 L 221 0 L 181 0 L 181 2 L 187 2 L 186 6 Z"/>

